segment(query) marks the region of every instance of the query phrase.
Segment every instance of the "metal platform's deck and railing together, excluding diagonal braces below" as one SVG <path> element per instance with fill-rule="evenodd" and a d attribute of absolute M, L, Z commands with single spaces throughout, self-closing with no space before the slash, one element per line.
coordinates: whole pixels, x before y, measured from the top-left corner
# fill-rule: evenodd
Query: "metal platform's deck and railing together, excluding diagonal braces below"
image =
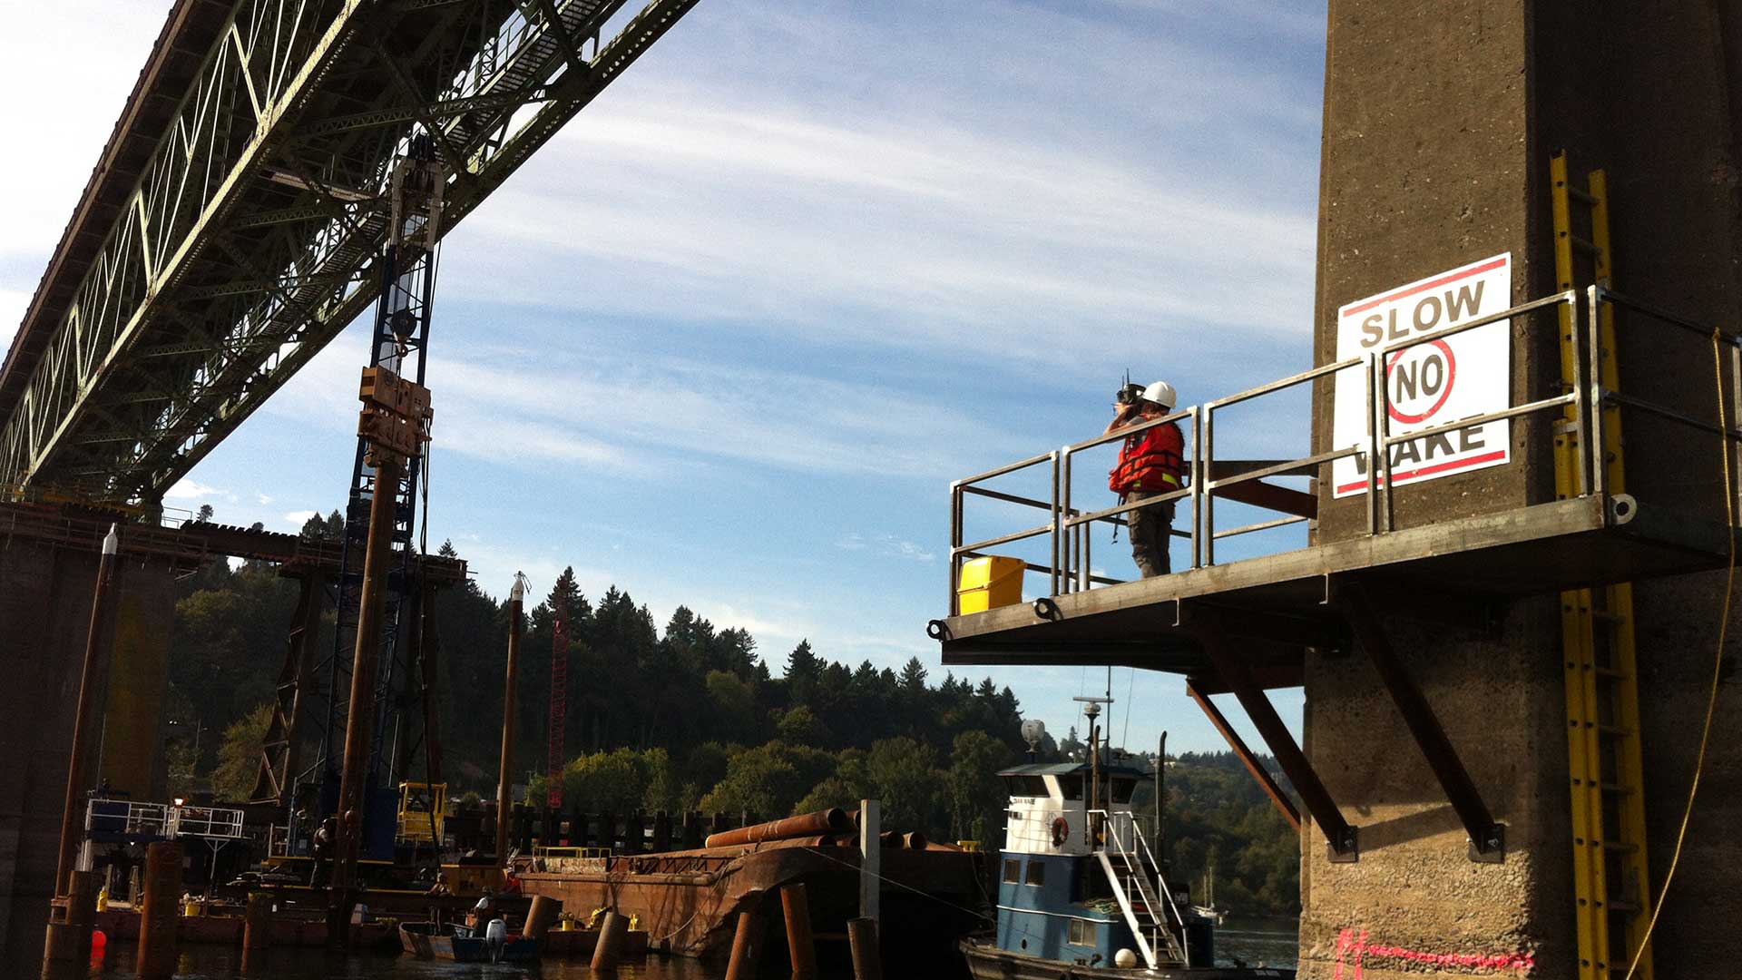
<path fill-rule="evenodd" d="M 1685 321 L 1665 310 L 1627 300 L 1613 291 L 1557 293 L 1529 303 L 1521 303 L 1495 316 L 1380 347 L 1362 359 L 1340 361 L 1305 371 L 1279 382 L 1259 385 L 1218 401 L 1172 412 L 1146 425 L 1097 436 L 1063 450 L 1030 457 L 1016 464 L 982 473 L 951 485 L 951 561 L 949 603 L 951 616 L 934 619 L 928 633 L 942 645 L 946 664 L 1117 664 L 1195 675 L 1211 666 L 1204 642 L 1192 630 L 1190 610 L 1216 610 L 1223 614 L 1232 638 L 1242 643 L 1249 663 L 1268 677 L 1266 685 L 1298 684 L 1298 670 L 1308 647 L 1334 647 L 1347 643 L 1347 621 L 1334 609 L 1336 591 L 1345 584 L 1361 584 L 1374 598 L 1385 598 L 1387 607 L 1411 609 L 1411 596 L 1430 596 L 1432 605 L 1448 603 L 1467 612 L 1472 607 L 1503 602 L 1524 595 L 1552 595 L 1561 589 L 1592 586 L 1613 581 L 1650 579 L 1723 567 L 1730 560 L 1730 542 L 1735 528 L 1719 507 L 1709 513 L 1690 513 L 1655 506 L 1627 493 L 1611 493 L 1604 487 L 1603 467 L 1590 466 L 1587 445 L 1578 439 L 1578 473 L 1582 493 L 1509 511 L 1441 520 L 1420 527 L 1394 528 L 1394 504 L 1388 488 L 1388 466 L 1367 469 L 1367 534 L 1345 541 L 1310 544 L 1306 548 L 1261 555 L 1218 563 L 1214 546 L 1228 537 L 1268 530 L 1280 525 L 1310 521 L 1317 516 L 1317 495 L 1268 483 L 1279 476 L 1317 478 L 1333 460 L 1350 455 L 1390 462 L 1392 446 L 1420 441 L 1435 432 L 1455 432 L 1493 422 L 1519 419 L 1529 413 L 1563 415 L 1577 419 L 1575 429 L 1601 427 L 1603 412 L 1617 405 L 1644 410 L 1671 422 L 1707 429 L 1723 429 L 1714 422 L 1690 417 L 1679 406 L 1655 406 L 1590 384 L 1596 373 L 1589 370 L 1589 337 L 1596 328 L 1592 310 L 1599 303 L 1631 309 L 1639 321 L 1657 321 L 1671 328 L 1711 338 L 1705 326 Z M 1493 323 L 1524 323 L 1521 317 L 1538 312 L 1571 310 L 1587 338 L 1580 345 L 1580 380 L 1557 396 L 1517 405 L 1505 412 L 1477 415 L 1409 432 L 1390 432 L 1387 413 L 1388 391 L 1380 378 L 1378 364 L 1390 354 Z M 1552 324 L 1554 317 L 1543 317 Z M 1523 337 L 1523 331 L 1514 330 Z M 1517 340 L 1514 340 L 1517 342 Z M 1737 340 L 1721 337 L 1725 370 L 1730 385 L 1737 371 Z M 1329 378 L 1338 371 L 1361 371 L 1366 377 L 1369 399 L 1367 419 L 1385 424 L 1369 425 L 1366 445 L 1338 446 L 1329 452 L 1294 460 L 1226 460 L 1214 453 L 1214 419 L 1233 405 L 1266 394 Z M 1124 439 L 1144 427 L 1178 422 L 1190 427 L 1190 485 L 1150 500 L 1122 504 L 1101 511 L 1080 511 L 1071 502 L 1071 466 L 1084 450 Z M 1545 431 L 1549 431 L 1545 427 Z M 1742 429 L 1732 422 L 1726 429 L 1732 446 L 1742 439 Z M 1733 452 L 1733 448 L 1732 448 Z M 984 483 L 1023 469 L 1050 467 L 1052 499 L 1019 497 L 984 487 Z M 962 541 L 963 509 L 969 497 L 989 497 L 1003 504 L 1017 504 L 1047 511 L 1049 521 L 979 542 Z M 1254 525 L 1218 530 L 1214 525 L 1216 500 L 1239 500 L 1282 514 Z M 1139 581 L 1117 581 L 1090 572 L 1087 530 L 1096 523 L 1124 523 L 1124 514 L 1138 507 L 1167 500 L 1190 502 L 1188 530 L 1176 530 L 1190 541 L 1192 567 L 1169 575 Z M 1183 507 L 1181 507 L 1183 509 Z M 1043 575 L 1047 591 L 1033 602 L 1005 605 L 986 612 L 962 616 L 956 612 L 956 577 L 962 561 L 993 555 L 998 548 L 1026 541 L 1047 539 L 1050 563 L 1028 563 L 1028 570 Z M 1415 603 L 1427 605 L 1427 603 Z M 1427 616 L 1427 612 L 1423 612 Z M 1462 616 L 1469 621 L 1469 616 Z M 1291 680 L 1291 671 L 1294 671 Z M 1198 684 L 1214 687 L 1204 678 Z"/>

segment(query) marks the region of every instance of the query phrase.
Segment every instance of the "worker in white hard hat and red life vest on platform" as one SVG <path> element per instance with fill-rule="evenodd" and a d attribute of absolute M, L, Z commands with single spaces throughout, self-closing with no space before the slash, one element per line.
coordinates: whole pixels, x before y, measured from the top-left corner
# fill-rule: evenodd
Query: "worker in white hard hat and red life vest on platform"
<path fill-rule="evenodd" d="M 1138 391 L 1138 385 L 1120 389 L 1118 412 L 1106 425 L 1111 436 L 1122 429 L 1160 419 L 1174 410 L 1179 394 L 1167 382 L 1155 382 Z M 1185 434 L 1176 422 L 1165 422 L 1125 436 L 1118 450 L 1118 466 L 1108 473 L 1108 488 L 1118 493 L 1120 504 L 1148 500 L 1185 487 Z M 1165 575 L 1171 570 L 1167 546 L 1174 530 L 1174 504 L 1165 500 L 1136 511 L 1125 511 L 1131 534 L 1131 558 L 1144 579 Z"/>

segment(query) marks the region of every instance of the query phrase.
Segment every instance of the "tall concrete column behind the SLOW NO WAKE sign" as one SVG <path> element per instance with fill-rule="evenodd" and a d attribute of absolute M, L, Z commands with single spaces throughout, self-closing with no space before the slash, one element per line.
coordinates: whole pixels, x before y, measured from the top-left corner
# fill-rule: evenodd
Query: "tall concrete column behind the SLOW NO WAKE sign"
<path fill-rule="evenodd" d="M 1610 174 L 1617 288 L 1712 324 L 1742 324 L 1742 14 L 1733 3 L 1568 5 L 1549 0 L 1331 0 L 1320 171 L 1315 361 L 1334 357 L 1336 309 L 1434 272 L 1512 253 L 1514 300 L 1556 289 L 1549 157 Z M 1514 337 L 1523 338 L 1514 324 Z M 1711 350 L 1620 323 L 1622 389 L 1711 415 Z M 1556 331 L 1514 344 L 1514 403 L 1559 378 Z M 1329 445 L 1329 385 L 1315 450 Z M 1514 462 L 1406 487 L 1399 527 L 1552 499 L 1549 420 L 1512 424 Z M 1712 436 L 1627 419 L 1629 490 L 1643 506 L 1719 504 Z M 1320 541 L 1366 534 L 1361 497 L 1320 499 Z M 1705 710 L 1719 575 L 1636 593 L 1651 872 L 1669 865 Z M 1533 977 L 1573 971 L 1573 884 L 1559 617 L 1552 598 L 1514 603 L 1489 633 L 1390 616 L 1402 666 L 1495 816 L 1507 858 L 1470 863 L 1465 832 L 1404 718 L 1362 656 L 1306 664 L 1306 752 L 1361 828 L 1361 860 L 1326 860 L 1303 832 L 1301 977 L 1329 978 L 1369 947 L 1524 954 Z M 1712 772 L 1742 764 L 1742 718 L 1721 711 Z M 1725 827 L 1742 799 L 1707 785 L 1653 950 L 1658 977 L 1723 973 L 1742 898 L 1742 853 Z M 1420 963 L 1364 956 L 1371 980 Z M 1448 968 L 1446 977 L 1455 975 Z M 1428 970 L 1432 975 L 1432 970 Z"/>

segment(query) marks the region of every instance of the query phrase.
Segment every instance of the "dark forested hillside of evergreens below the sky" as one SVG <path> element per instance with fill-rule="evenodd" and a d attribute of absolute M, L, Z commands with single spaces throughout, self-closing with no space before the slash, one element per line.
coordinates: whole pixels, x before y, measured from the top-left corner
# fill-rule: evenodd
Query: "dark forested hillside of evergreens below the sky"
<path fill-rule="evenodd" d="M 336 532 L 338 516 L 305 534 Z M 455 555 L 444 544 L 442 553 Z M 516 783 L 544 793 L 554 609 L 568 610 L 564 795 L 594 811 L 753 811 L 766 816 L 883 800 L 890 827 L 937 839 L 1003 830 L 995 772 L 1021 759 L 1021 706 L 1009 687 L 918 657 L 899 671 L 827 659 L 808 642 L 760 650 L 679 607 L 657 624 L 611 588 L 585 596 L 571 574 L 528 598 L 517 675 Z M 181 582 L 167 703 L 178 792 L 235 799 L 253 786 L 267 704 L 284 661 L 296 584 L 270 565 L 213 563 Z M 507 603 L 476 582 L 439 600 L 441 741 L 455 792 L 495 793 L 507 657 Z M 331 650 L 331 614 L 319 650 Z M 348 656 L 348 654 L 347 654 Z M 195 752 L 195 741 L 199 752 Z M 1049 739 L 1047 759 L 1059 757 Z M 1066 739 L 1064 752 L 1080 755 Z M 1151 766 L 1153 757 L 1138 757 Z M 1153 797 L 1144 809 L 1153 806 Z M 1198 886 L 1216 868 L 1219 905 L 1289 912 L 1298 902 L 1294 834 L 1232 755 L 1167 767 L 1174 874 Z"/>

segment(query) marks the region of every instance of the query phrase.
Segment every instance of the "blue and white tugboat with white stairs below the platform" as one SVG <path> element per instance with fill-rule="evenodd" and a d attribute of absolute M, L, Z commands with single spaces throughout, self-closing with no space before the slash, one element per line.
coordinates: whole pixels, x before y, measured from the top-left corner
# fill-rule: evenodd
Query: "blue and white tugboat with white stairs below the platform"
<path fill-rule="evenodd" d="M 1291 968 L 1216 966 L 1216 922 L 1183 884 L 1165 886 L 1131 809 L 1150 774 L 1104 764 L 1089 701 L 1089 760 L 998 772 L 1010 802 L 1000 853 L 998 931 L 962 940 L 976 980 L 1059 977 L 1150 980 L 1293 980 Z M 1043 729 L 1023 725 L 1030 748 Z M 1030 752 L 1033 759 L 1033 752 Z"/>

